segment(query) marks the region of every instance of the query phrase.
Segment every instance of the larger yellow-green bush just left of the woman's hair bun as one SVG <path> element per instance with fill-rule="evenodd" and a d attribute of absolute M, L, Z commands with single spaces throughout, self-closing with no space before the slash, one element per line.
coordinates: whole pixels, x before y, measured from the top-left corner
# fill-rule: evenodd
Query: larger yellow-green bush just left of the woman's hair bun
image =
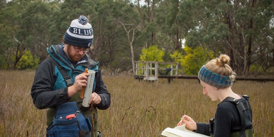
<path fill-rule="evenodd" d="M 207 49 L 204 51 L 201 47 L 191 49 L 185 46 L 184 51 L 186 52 L 185 56 L 178 51 L 170 54 L 170 56 L 175 62 L 180 63 L 184 73 L 187 75 L 197 75 L 201 66 L 214 57 L 212 51 L 208 51 Z"/>

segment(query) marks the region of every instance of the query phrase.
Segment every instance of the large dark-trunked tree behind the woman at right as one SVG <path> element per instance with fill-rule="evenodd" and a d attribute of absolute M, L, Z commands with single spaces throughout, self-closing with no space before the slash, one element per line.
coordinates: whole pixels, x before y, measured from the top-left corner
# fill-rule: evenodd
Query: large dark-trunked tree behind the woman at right
<path fill-rule="evenodd" d="M 273 34 L 268 28 L 273 18 L 271 0 L 201 1 L 196 9 L 199 24 L 189 30 L 188 46 L 199 45 L 215 53 L 228 54 L 237 74 L 247 76 L 252 63 L 273 51 L 273 47 L 268 46 L 271 42 L 266 43 L 268 40 L 261 38 Z M 262 33 L 262 30 L 266 31 Z"/>

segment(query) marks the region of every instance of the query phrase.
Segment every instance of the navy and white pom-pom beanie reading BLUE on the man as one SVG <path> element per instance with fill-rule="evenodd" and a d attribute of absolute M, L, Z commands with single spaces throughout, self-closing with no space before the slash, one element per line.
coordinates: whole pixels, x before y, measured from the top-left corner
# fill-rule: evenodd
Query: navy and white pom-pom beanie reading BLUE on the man
<path fill-rule="evenodd" d="M 88 23 L 88 18 L 81 15 L 78 19 L 72 20 L 64 40 L 70 45 L 89 48 L 93 41 L 93 29 Z"/>

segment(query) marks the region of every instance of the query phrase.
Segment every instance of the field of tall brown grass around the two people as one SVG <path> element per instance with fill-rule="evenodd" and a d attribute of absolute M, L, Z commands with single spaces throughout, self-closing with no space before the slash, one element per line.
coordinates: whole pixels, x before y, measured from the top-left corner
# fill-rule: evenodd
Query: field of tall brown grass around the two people
<path fill-rule="evenodd" d="M 45 137 L 46 110 L 32 103 L 34 71 L 0 71 L 0 137 Z M 108 110 L 99 110 L 103 137 L 161 137 L 183 114 L 196 122 L 214 117 L 219 102 L 202 93 L 197 80 L 135 80 L 104 76 L 112 97 Z M 274 137 L 274 82 L 237 81 L 233 91 L 250 96 L 255 137 Z"/>

